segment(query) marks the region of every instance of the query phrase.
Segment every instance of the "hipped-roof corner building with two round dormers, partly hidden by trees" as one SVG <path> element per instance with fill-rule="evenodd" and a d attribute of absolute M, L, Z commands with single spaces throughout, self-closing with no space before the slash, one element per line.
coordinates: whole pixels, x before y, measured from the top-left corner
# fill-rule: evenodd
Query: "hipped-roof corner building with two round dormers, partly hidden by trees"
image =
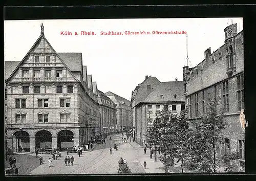
<path fill-rule="evenodd" d="M 162 109 L 179 114 L 185 109 L 183 81 L 160 82 L 156 77 L 146 76 L 132 92 L 132 121 L 134 141 L 147 144 L 147 128 L 152 125 Z"/>

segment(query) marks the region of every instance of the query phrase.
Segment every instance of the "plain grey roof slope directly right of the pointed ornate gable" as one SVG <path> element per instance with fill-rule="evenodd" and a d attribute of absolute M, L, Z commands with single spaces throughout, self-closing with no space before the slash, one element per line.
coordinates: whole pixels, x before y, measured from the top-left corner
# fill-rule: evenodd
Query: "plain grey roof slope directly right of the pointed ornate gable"
<path fill-rule="evenodd" d="M 57 53 L 71 72 L 82 70 L 82 53 Z"/>

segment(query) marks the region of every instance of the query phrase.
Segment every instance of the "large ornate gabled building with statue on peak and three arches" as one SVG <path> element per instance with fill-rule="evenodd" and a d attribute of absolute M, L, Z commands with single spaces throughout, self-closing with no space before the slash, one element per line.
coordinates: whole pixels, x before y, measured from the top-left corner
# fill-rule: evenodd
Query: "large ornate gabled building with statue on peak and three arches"
<path fill-rule="evenodd" d="M 97 86 L 82 54 L 56 53 L 42 25 L 23 60 L 5 62 L 5 80 L 7 151 L 66 149 L 99 134 Z"/>

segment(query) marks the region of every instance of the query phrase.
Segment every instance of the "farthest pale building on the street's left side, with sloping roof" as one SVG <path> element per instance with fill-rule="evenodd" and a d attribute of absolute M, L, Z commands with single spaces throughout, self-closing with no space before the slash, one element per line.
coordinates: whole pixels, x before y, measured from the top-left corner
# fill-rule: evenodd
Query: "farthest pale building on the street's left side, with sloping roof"
<path fill-rule="evenodd" d="M 116 111 L 116 131 L 129 130 L 132 125 L 132 115 L 131 115 L 131 102 L 124 99 L 112 92 L 105 93 L 114 103 L 117 108 Z"/>

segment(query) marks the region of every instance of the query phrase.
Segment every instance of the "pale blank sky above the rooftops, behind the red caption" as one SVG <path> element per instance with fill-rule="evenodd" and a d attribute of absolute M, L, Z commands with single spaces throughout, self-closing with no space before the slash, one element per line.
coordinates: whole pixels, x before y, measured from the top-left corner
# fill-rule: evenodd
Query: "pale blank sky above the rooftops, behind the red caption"
<path fill-rule="evenodd" d="M 183 80 L 186 34 L 153 34 L 153 31 L 186 32 L 188 64 L 194 67 L 204 59 L 206 49 L 216 51 L 224 44 L 224 29 L 228 25 L 237 23 L 238 32 L 243 30 L 243 18 L 7 20 L 4 21 L 5 61 L 21 61 L 26 56 L 40 36 L 41 22 L 45 37 L 56 52 L 82 53 L 83 65 L 97 82 L 97 88 L 130 101 L 132 91 L 146 75 L 161 82 L 175 81 L 176 77 Z M 95 35 L 81 35 L 81 31 Z M 101 35 L 101 31 L 122 35 Z M 125 31 L 146 34 L 125 35 Z"/>

